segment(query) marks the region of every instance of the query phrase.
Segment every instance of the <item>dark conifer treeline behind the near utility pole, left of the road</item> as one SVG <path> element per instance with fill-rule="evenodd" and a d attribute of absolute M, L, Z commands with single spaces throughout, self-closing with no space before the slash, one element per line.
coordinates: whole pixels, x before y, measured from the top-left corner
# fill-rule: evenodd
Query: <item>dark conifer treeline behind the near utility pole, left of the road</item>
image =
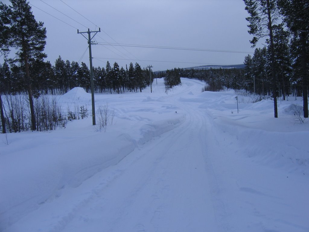
<path fill-rule="evenodd" d="M 0 91 L 2 94 L 15 94 L 27 91 L 25 68 L 11 66 L 5 62 L 0 67 Z M 40 94 L 62 94 L 74 87 L 82 87 L 90 91 L 90 70 L 84 62 L 62 60 L 59 56 L 52 66 L 51 63 L 36 61 L 30 64 L 31 85 L 34 97 Z M 153 75 L 152 75 L 153 76 Z M 141 68 L 138 63 L 131 62 L 129 68 L 119 67 L 115 62 L 113 67 L 106 62 L 106 67 L 94 67 L 93 79 L 95 92 L 123 93 L 142 92 L 150 84 L 149 70 Z M 153 79 L 151 79 L 153 81 Z"/>

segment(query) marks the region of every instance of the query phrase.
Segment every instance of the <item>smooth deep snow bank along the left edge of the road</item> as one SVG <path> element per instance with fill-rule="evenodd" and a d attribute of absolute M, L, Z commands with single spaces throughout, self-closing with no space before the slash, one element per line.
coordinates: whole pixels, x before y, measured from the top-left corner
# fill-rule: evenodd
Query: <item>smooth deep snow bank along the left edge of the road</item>
<path fill-rule="evenodd" d="M 19 149 L 0 155 L 0 183 L 1 189 L 5 190 L 1 191 L 0 197 L 0 228 L 15 223 L 41 204 L 60 197 L 63 189 L 78 187 L 102 169 L 116 165 L 138 144 L 172 130 L 183 121 L 184 116 L 175 114 L 169 120 L 143 125 L 138 138 L 118 131 L 92 131 L 68 140 L 59 134 L 61 131 L 52 131 L 41 133 L 44 141 L 37 144 L 40 133 L 16 134 L 25 138 L 28 133 L 29 137 L 15 141 L 21 143 L 17 146 Z M 62 136 L 64 142 L 54 139 L 57 135 Z"/>

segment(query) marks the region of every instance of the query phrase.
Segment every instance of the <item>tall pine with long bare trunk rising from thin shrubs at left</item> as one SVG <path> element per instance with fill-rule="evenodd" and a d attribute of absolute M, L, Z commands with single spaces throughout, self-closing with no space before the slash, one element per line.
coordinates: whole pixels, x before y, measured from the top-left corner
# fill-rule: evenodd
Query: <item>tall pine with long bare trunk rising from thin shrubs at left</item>
<path fill-rule="evenodd" d="M 19 57 L 19 62 L 25 68 L 27 78 L 27 89 L 31 112 L 32 131 L 36 130 L 36 118 L 32 99 L 32 77 L 30 76 L 29 64 L 34 60 L 43 60 L 46 54 L 43 53 L 46 44 L 46 28 L 42 22 L 37 22 L 26 0 L 10 0 L 12 4 L 11 26 L 12 38 L 10 41 Z"/>

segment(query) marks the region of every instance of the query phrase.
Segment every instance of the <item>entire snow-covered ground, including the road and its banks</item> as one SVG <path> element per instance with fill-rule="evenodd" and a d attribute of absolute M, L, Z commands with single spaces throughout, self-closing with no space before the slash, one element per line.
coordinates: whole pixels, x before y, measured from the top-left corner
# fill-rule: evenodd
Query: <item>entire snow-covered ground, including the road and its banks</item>
<path fill-rule="evenodd" d="M 97 94 L 97 109 L 115 110 L 101 130 L 89 116 L 0 134 L 0 230 L 309 231 L 309 123 L 292 107 L 301 99 L 279 101 L 274 118 L 272 101 L 237 113 L 233 90 L 203 86 L 182 79 L 165 92 L 158 79 L 152 93 Z M 57 101 L 91 111 L 80 88 Z"/>

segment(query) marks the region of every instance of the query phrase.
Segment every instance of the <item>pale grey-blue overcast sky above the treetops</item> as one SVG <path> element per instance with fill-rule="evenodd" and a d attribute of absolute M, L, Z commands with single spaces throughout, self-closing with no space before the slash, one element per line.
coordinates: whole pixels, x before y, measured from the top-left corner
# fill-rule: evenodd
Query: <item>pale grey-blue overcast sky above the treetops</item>
<path fill-rule="evenodd" d="M 2 2 L 10 4 L 8 0 Z M 93 41 L 99 44 L 91 46 L 94 67 L 105 67 L 107 60 L 111 66 L 116 61 L 124 68 L 130 62 L 138 62 L 142 68 L 152 65 L 153 71 L 203 64 L 231 65 L 242 64 L 248 54 L 100 44 L 106 42 L 254 51 L 249 42 L 252 36 L 248 34 L 245 19 L 248 13 L 243 0 L 29 0 L 29 3 L 35 19 L 44 22 L 47 29 L 45 53 L 52 65 L 60 55 L 64 61 L 81 60 L 89 66 L 87 40 L 77 34 L 77 29 L 96 31 L 98 27 L 101 32 Z"/>

